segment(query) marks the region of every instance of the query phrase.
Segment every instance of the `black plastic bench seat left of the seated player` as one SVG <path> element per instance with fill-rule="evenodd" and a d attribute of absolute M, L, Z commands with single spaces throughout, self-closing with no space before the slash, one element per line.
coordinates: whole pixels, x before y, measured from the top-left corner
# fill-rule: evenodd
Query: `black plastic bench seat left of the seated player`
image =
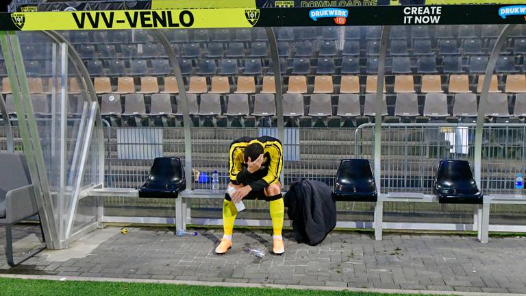
<path fill-rule="evenodd" d="M 155 158 L 148 180 L 139 188 L 139 197 L 177 198 L 186 189 L 184 169 L 179 158 Z"/>

